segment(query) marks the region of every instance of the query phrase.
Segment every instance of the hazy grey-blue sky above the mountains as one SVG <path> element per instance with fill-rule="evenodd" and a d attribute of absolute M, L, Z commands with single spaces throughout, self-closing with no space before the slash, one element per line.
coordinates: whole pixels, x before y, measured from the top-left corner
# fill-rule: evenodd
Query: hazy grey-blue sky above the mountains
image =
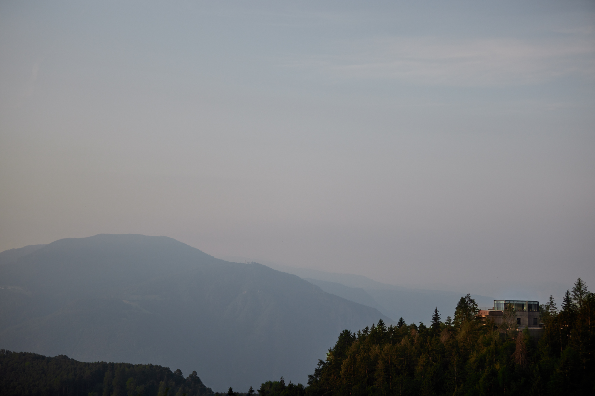
<path fill-rule="evenodd" d="M 0 250 L 595 290 L 594 110 L 593 1 L 4 1 Z"/>

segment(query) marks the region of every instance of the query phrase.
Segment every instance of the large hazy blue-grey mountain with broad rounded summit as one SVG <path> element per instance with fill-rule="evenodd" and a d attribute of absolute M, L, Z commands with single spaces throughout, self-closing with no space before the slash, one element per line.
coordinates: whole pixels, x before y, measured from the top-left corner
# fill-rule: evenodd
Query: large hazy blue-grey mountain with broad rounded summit
<path fill-rule="evenodd" d="M 197 370 L 215 390 L 305 382 L 340 331 L 391 322 L 295 275 L 168 237 L 57 240 L 1 264 L 0 284 L 0 348 Z"/>

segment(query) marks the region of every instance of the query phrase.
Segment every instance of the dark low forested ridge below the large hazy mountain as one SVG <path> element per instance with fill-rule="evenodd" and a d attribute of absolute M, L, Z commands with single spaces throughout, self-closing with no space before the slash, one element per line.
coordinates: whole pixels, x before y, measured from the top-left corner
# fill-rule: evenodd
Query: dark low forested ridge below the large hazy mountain
<path fill-rule="evenodd" d="M 3 396 L 202 396 L 214 395 L 193 371 L 130 363 L 84 363 L 60 355 L 0 350 Z"/>

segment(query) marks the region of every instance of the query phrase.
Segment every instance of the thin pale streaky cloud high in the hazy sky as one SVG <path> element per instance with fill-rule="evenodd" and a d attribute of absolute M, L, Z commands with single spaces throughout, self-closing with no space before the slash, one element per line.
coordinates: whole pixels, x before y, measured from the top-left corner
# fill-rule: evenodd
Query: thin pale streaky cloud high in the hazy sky
<path fill-rule="evenodd" d="M 358 42 L 336 55 L 293 58 L 287 66 L 334 78 L 422 85 L 537 84 L 563 75 L 595 77 L 593 37 L 558 42 L 392 37 Z"/>

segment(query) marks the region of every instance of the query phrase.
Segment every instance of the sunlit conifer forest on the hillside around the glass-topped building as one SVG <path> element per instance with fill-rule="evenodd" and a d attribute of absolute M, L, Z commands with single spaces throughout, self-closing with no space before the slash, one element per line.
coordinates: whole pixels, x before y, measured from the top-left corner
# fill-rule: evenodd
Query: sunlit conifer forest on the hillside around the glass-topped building
<path fill-rule="evenodd" d="M 339 335 L 308 387 L 262 384 L 267 396 L 339 395 L 594 395 L 595 295 L 579 278 L 558 310 L 550 296 L 541 307 L 537 341 L 517 329 L 512 306 L 505 321 L 482 322 L 469 294 L 453 318 L 434 310 L 427 327 L 383 321 Z M 506 321 L 506 314 L 511 316 Z"/>

